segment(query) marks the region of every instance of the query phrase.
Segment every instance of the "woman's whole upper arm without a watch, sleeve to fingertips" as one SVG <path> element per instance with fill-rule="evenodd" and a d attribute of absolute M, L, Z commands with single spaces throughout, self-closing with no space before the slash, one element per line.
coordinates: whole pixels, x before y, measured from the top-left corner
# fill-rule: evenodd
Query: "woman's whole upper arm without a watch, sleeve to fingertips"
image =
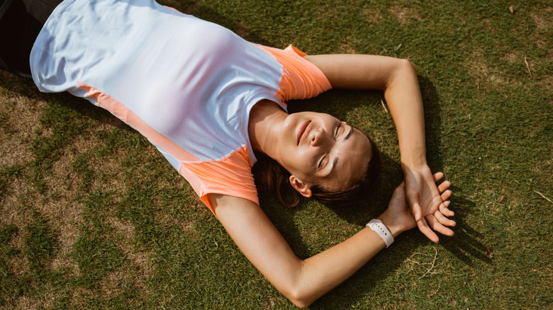
<path fill-rule="evenodd" d="M 426 162 L 423 99 L 415 66 L 406 59 L 361 54 L 306 56 L 327 77 L 333 88 L 378 89 L 384 92 L 398 132 L 406 197 L 420 231 L 437 242 L 430 229 L 451 236 L 443 226 L 453 212 L 444 205 Z M 430 226 L 429 226 L 430 224 Z"/>

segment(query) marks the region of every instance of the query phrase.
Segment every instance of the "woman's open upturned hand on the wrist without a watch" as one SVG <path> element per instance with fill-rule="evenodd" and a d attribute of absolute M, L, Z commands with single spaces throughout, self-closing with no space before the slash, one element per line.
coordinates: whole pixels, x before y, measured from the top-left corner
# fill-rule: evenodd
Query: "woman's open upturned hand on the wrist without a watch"
<path fill-rule="evenodd" d="M 406 197 L 411 212 L 420 231 L 434 242 L 440 239 L 432 229 L 452 236 L 453 231 L 444 225 L 455 226 L 454 221 L 447 219 L 454 215 L 454 212 L 447 209 L 449 202 L 446 201 L 451 196 L 451 190 L 447 190 L 451 183 L 446 180 L 436 186 L 436 182 L 443 176 L 441 172 L 432 176 L 426 165 L 418 169 L 406 169 Z"/>

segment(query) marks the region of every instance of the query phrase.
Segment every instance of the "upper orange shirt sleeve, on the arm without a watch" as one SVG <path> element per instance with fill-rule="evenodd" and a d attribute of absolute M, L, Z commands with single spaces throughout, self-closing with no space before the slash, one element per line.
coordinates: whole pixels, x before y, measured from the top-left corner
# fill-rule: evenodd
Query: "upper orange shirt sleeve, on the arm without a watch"
<path fill-rule="evenodd" d="M 289 45 L 284 50 L 257 45 L 269 52 L 283 67 L 277 96 L 281 101 L 312 98 L 332 88 L 323 71 L 304 59 L 306 53 Z"/>

